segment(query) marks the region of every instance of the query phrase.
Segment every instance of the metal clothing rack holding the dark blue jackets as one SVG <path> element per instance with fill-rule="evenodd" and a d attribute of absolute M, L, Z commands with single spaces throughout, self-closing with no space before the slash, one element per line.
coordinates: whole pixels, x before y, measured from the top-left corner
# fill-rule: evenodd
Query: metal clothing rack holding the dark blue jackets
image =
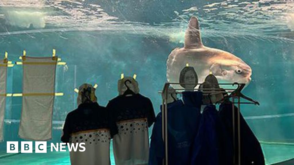
<path fill-rule="evenodd" d="M 181 83 L 184 85 L 195 85 L 191 83 Z M 211 84 L 211 85 L 231 85 L 234 86 L 238 83 L 218 83 L 218 84 Z M 167 130 L 167 98 L 168 94 L 171 94 L 170 90 L 168 88 L 171 85 L 180 85 L 180 83 L 165 83 L 163 90 L 161 92 L 162 95 L 162 139 L 164 143 L 164 151 L 165 151 L 165 157 L 163 159 L 163 165 L 168 165 L 168 130 Z M 196 84 L 196 86 L 202 85 L 202 84 Z M 239 85 L 245 85 L 245 84 L 238 84 Z M 182 93 L 185 90 L 188 91 L 202 91 L 203 95 L 209 95 L 209 94 L 218 94 L 218 93 L 233 93 L 235 92 L 237 88 L 205 88 L 205 89 L 198 89 L 198 88 L 193 88 L 193 89 L 188 89 L 188 88 L 174 88 L 177 94 Z M 178 92 L 177 92 L 178 91 Z M 237 102 L 235 102 L 235 99 L 238 99 Z M 238 104 L 238 115 L 237 115 L 237 127 L 238 127 L 238 159 L 236 160 L 236 144 L 235 144 L 235 104 Z M 240 102 L 240 96 L 233 96 L 232 97 L 232 105 L 233 105 L 233 151 L 234 151 L 234 157 L 233 157 L 233 162 L 234 165 L 238 164 L 241 165 L 241 150 L 240 150 L 240 104 L 255 104 L 253 102 Z M 258 103 L 259 105 L 259 103 Z"/>

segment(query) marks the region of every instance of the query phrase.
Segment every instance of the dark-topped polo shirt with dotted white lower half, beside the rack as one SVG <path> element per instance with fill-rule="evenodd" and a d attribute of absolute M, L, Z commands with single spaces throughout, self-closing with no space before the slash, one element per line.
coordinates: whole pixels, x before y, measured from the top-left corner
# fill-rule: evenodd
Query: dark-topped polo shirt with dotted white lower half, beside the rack
<path fill-rule="evenodd" d="M 148 127 L 155 122 L 151 100 L 141 94 L 120 95 L 107 108 L 116 165 L 148 164 Z"/>

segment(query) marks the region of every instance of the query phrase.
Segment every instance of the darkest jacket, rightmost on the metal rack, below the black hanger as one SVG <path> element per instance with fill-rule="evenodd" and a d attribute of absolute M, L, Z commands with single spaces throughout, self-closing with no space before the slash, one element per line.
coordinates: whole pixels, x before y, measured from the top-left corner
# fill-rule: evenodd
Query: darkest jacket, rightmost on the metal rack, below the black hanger
<path fill-rule="evenodd" d="M 229 130 L 230 142 L 233 143 L 233 119 L 232 119 L 232 109 L 233 105 L 231 102 L 225 102 L 220 105 L 219 115 L 225 124 L 227 130 Z M 237 123 L 238 108 L 235 106 L 235 123 Z M 238 128 L 235 127 L 235 132 L 238 132 Z M 255 137 L 254 133 L 251 131 L 250 127 L 246 123 L 242 114 L 240 113 L 240 149 L 241 149 L 241 164 L 265 164 L 263 152 Z M 236 137 L 235 144 L 238 144 L 238 139 Z M 231 144 L 233 145 L 233 144 Z M 236 145 L 238 147 L 238 145 Z M 236 149 L 238 151 L 238 148 Z"/>

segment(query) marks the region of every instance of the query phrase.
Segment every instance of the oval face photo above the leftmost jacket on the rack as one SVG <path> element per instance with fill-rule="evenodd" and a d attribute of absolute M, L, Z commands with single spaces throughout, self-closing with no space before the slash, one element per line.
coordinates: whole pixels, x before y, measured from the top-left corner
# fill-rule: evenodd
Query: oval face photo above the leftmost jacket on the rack
<path fill-rule="evenodd" d="M 193 89 L 198 83 L 198 77 L 193 67 L 186 66 L 180 74 L 180 85 L 185 89 Z"/>

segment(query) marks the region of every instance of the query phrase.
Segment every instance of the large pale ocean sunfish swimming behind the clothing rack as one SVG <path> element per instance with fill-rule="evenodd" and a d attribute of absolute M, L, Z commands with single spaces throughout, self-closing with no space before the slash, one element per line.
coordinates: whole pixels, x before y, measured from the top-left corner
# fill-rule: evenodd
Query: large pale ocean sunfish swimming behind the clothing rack
<path fill-rule="evenodd" d="M 192 16 L 185 33 L 183 48 L 175 48 L 166 62 L 168 82 L 179 82 L 181 70 L 186 66 L 194 67 L 198 82 L 203 83 L 212 73 L 219 83 L 245 83 L 251 81 L 251 68 L 243 60 L 223 50 L 209 48 L 202 44 L 199 22 Z"/>

